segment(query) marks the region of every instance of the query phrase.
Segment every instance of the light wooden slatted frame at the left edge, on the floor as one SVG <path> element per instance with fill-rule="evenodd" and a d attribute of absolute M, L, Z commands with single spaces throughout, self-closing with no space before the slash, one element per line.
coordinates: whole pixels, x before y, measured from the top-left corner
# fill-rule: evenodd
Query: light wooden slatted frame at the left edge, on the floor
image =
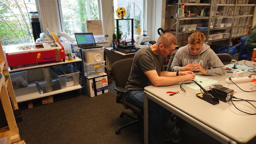
<path fill-rule="evenodd" d="M 16 102 L 16 97 L 12 87 L 11 77 L 9 75 L 3 47 L 0 41 L 0 99 L 8 123 L 7 127 L 0 129 L 0 138 L 7 137 L 7 144 L 20 142 L 19 129 L 15 121 L 10 98 L 14 105 L 14 109 L 18 109 L 18 104 Z"/>

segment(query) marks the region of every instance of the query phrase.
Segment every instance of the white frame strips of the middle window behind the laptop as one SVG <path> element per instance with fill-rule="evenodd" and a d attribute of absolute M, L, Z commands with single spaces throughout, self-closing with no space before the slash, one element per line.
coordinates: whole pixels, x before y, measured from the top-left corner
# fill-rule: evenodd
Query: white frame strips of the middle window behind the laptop
<path fill-rule="evenodd" d="M 98 14 L 99 14 L 99 20 L 101 20 L 101 9 L 100 9 L 100 0 L 97 0 L 98 1 Z M 57 0 L 57 4 L 58 4 L 58 8 L 57 8 L 57 12 L 59 13 L 59 17 L 60 17 L 60 28 L 61 28 L 61 31 L 62 32 L 65 32 L 65 28 L 64 28 L 64 20 L 63 20 L 63 14 L 62 14 L 62 8 L 61 8 L 61 0 Z M 87 10 L 87 16 L 89 18 L 89 15 L 90 15 L 90 18 L 91 18 L 91 12 L 90 10 L 88 9 L 88 7 L 90 7 L 90 1 L 89 0 L 86 0 L 86 10 Z M 88 14 L 90 13 L 90 14 Z M 89 19 L 88 19 L 89 20 Z"/>

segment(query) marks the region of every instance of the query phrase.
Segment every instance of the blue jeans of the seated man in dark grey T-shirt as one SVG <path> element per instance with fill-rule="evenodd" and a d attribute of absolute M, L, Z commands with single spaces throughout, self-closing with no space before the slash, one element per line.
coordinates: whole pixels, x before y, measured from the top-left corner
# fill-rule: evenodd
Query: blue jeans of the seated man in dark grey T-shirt
<path fill-rule="evenodd" d="M 132 104 L 144 107 L 144 90 L 132 91 L 126 94 L 126 99 Z M 155 137 L 155 139 L 161 139 L 161 133 L 164 125 L 168 122 L 171 112 L 161 107 L 152 100 L 148 100 L 148 127 L 149 132 Z"/>

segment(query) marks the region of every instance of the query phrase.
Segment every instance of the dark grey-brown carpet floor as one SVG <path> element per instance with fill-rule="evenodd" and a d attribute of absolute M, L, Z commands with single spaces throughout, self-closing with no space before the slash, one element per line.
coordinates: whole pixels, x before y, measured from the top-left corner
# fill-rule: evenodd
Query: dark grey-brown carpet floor
<path fill-rule="evenodd" d="M 51 104 L 34 100 L 34 108 L 29 109 L 26 102 L 20 103 L 20 138 L 27 144 L 142 144 L 143 128 L 137 124 L 115 134 L 117 127 L 132 120 L 119 117 L 124 108 L 114 100 L 114 87 L 115 83 L 110 83 L 108 93 L 95 97 L 79 95 L 76 90 L 55 95 Z M 173 128 L 174 123 L 169 121 L 166 132 Z M 219 144 L 190 124 L 182 130 L 180 143 Z"/>

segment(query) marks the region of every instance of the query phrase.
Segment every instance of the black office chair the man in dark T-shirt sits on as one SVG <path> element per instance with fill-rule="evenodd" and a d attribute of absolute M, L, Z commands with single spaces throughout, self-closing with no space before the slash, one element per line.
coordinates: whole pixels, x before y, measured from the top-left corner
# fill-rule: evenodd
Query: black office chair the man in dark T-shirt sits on
<path fill-rule="evenodd" d="M 125 115 L 125 116 L 132 118 L 134 121 L 132 121 L 128 124 L 125 124 L 125 125 L 119 127 L 118 129 L 116 129 L 116 134 L 119 134 L 122 129 L 124 129 L 130 125 L 133 125 L 136 123 L 140 124 L 142 122 L 143 109 L 128 102 L 125 97 L 125 94 L 127 92 L 127 89 L 125 89 L 125 84 L 130 75 L 130 71 L 132 68 L 132 61 L 133 61 L 133 58 L 118 60 L 118 61 L 114 62 L 111 66 L 113 75 L 114 75 L 114 79 L 115 79 L 115 83 L 116 83 L 116 87 L 115 87 L 115 90 L 117 91 L 116 92 L 117 93 L 116 102 L 123 104 L 125 109 L 131 109 L 132 112 L 137 115 L 137 117 L 135 117 L 132 114 L 122 111 L 120 114 L 120 117 L 123 117 Z"/>

